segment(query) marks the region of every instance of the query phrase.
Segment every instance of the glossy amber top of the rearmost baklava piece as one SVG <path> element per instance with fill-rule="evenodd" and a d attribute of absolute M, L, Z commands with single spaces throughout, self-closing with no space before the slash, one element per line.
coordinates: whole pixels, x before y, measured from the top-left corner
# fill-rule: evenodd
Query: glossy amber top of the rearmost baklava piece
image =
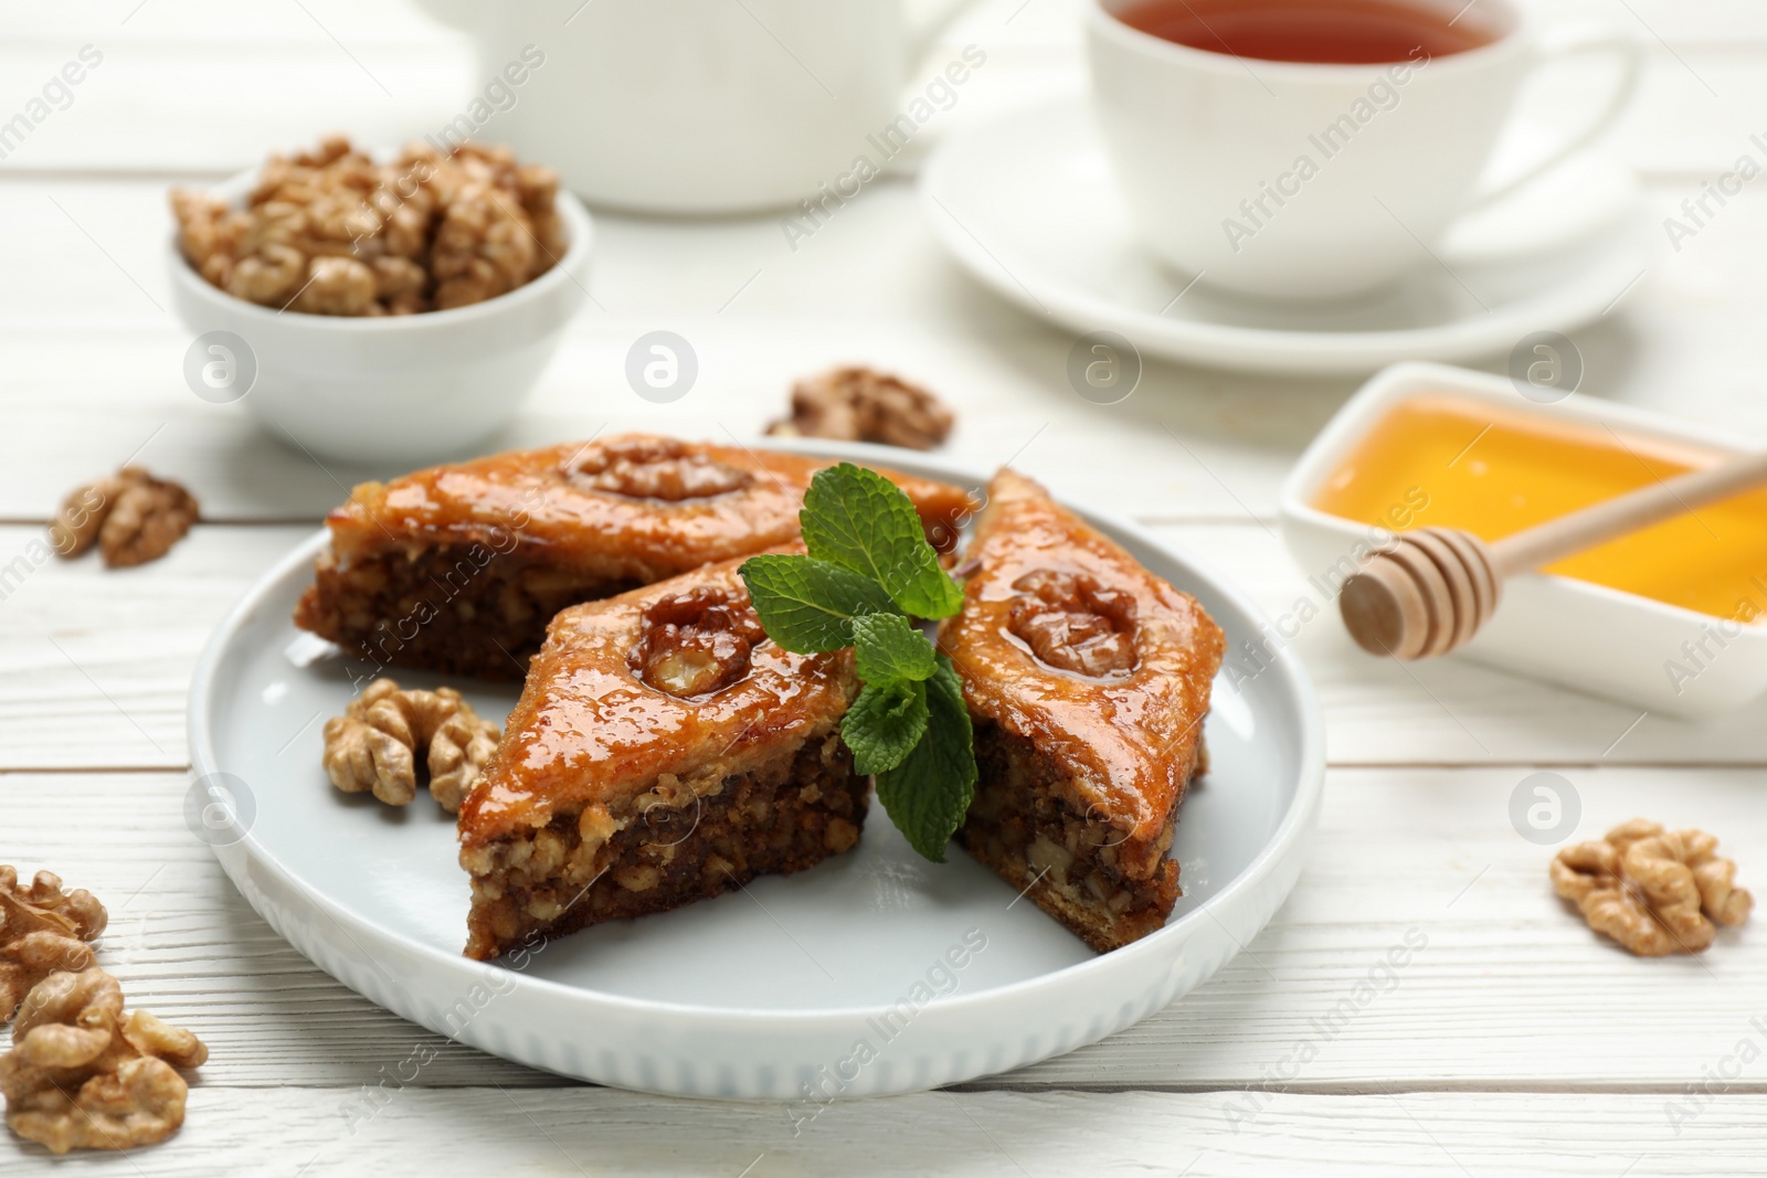
<path fill-rule="evenodd" d="M 387 549 L 482 544 L 555 567 L 648 583 L 786 544 L 827 459 L 620 434 L 511 450 L 364 482 L 327 517 L 339 562 Z M 956 535 L 970 509 L 954 486 L 878 470 L 915 503 L 929 535 Z M 937 537 L 935 537 L 937 539 Z"/>

